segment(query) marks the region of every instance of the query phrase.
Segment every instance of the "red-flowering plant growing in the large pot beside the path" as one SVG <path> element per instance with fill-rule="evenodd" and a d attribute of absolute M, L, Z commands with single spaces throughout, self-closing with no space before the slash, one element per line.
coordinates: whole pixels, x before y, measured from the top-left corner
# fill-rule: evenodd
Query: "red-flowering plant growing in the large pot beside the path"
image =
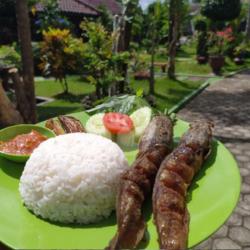
<path fill-rule="evenodd" d="M 230 26 L 221 31 L 210 32 L 208 38 L 209 54 L 224 55 L 228 44 L 234 40 L 233 30 Z"/>

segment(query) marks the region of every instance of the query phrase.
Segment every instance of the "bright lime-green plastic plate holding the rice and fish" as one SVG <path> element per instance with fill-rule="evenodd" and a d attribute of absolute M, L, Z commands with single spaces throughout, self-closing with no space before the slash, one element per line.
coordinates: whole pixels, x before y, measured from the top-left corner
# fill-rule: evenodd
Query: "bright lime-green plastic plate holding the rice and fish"
<path fill-rule="evenodd" d="M 83 123 L 85 113 L 74 116 Z M 188 128 L 178 121 L 175 139 Z M 126 152 L 132 162 L 136 151 Z M 16 249 L 104 249 L 115 233 L 113 213 L 108 219 L 91 225 L 55 224 L 36 217 L 22 204 L 18 192 L 22 164 L 0 157 L 0 241 Z M 218 141 L 189 191 L 190 212 L 189 247 L 209 237 L 229 217 L 240 193 L 240 174 L 230 152 Z M 150 201 L 145 208 L 148 239 L 140 248 L 158 249 L 157 235 L 152 221 Z"/>

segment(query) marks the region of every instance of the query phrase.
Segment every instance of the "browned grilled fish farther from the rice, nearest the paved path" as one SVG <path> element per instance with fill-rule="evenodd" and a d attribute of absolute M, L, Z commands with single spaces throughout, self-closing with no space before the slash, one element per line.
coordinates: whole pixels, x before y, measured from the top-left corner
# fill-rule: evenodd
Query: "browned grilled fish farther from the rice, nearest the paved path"
<path fill-rule="evenodd" d="M 212 125 L 194 122 L 179 146 L 162 162 L 153 190 L 154 222 L 160 249 L 187 248 L 187 189 L 211 151 Z"/>

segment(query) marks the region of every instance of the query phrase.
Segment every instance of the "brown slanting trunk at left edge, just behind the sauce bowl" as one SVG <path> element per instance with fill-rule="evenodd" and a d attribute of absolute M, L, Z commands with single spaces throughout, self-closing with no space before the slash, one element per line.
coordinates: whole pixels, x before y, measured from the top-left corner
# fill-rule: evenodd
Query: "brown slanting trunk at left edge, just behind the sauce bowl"
<path fill-rule="evenodd" d="M 6 95 L 0 82 L 0 127 L 22 123 L 23 118 Z"/>

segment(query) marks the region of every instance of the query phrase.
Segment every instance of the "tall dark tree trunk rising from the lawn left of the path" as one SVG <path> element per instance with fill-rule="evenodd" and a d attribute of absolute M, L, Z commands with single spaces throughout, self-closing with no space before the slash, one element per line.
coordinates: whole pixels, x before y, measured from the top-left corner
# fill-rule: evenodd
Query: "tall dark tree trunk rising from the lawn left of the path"
<path fill-rule="evenodd" d="M 170 79 L 175 79 L 175 57 L 180 32 L 181 4 L 182 0 L 171 0 L 169 6 L 168 77 Z"/>

